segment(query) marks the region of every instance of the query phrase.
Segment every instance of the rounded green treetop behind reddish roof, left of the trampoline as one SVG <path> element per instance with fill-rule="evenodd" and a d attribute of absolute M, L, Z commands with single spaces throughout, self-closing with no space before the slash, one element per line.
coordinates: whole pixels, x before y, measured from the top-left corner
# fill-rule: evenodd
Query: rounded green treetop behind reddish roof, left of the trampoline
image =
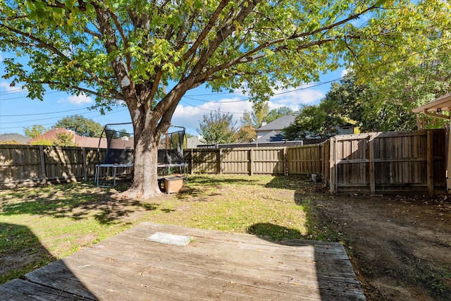
<path fill-rule="evenodd" d="M 104 130 L 100 123 L 80 115 L 62 118 L 52 128 L 66 128 L 84 137 L 100 137 Z"/>

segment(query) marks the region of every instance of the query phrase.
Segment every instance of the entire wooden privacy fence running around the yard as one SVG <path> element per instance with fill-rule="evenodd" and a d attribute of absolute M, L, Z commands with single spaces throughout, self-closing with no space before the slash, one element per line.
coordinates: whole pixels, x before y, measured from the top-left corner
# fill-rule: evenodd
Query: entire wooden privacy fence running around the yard
<path fill-rule="evenodd" d="M 446 191 L 446 153 L 445 130 L 417 130 L 340 135 L 298 147 L 187 149 L 185 161 L 192 174 L 314 173 L 333 193 L 433 195 Z M 96 148 L 0 145 L 0 188 L 94 180 L 98 160 Z"/>

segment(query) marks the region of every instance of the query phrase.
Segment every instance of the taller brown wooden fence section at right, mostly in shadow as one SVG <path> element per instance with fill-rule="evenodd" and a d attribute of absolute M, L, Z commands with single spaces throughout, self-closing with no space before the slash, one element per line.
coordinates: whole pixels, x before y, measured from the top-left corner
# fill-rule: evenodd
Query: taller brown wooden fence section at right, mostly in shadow
<path fill-rule="evenodd" d="M 330 192 L 445 192 L 446 151 L 445 130 L 335 136 Z"/>

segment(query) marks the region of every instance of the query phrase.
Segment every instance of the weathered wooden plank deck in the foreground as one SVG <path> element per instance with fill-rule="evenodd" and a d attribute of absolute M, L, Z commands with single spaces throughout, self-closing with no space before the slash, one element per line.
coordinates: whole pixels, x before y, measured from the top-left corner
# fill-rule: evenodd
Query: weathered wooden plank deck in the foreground
<path fill-rule="evenodd" d="M 155 242 L 183 235 L 187 245 Z M 166 235 L 166 234 L 163 234 Z M 141 223 L 0 287 L 1 300 L 365 300 L 338 242 Z"/>

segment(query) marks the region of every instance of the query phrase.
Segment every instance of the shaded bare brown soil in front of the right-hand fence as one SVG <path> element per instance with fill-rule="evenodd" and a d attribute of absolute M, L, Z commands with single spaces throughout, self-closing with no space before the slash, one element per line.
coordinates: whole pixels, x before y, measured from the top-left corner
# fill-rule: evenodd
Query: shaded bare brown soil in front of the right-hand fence
<path fill-rule="evenodd" d="M 451 300 L 450 199 L 329 196 L 316 209 L 368 300 Z"/>

